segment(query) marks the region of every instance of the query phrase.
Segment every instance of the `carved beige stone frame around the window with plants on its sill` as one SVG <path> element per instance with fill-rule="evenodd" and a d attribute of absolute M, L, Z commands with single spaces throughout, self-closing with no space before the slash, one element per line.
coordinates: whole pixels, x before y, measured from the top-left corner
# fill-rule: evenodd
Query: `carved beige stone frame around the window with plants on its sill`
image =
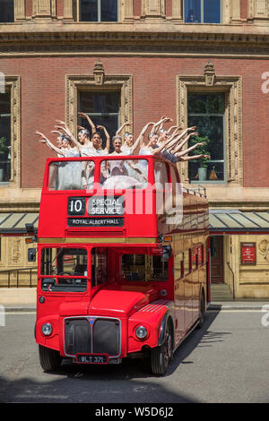
<path fill-rule="evenodd" d="M 188 92 L 225 92 L 227 110 L 225 128 L 227 183 L 230 185 L 243 185 L 242 78 L 241 76 L 217 76 L 214 74 L 213 81 L 208 83 L 206 82 L 206 69 L 203 76 L 178 75 L 178 125 L 183 128 L 187 127 Z M 187 163 L 181 163 L 179 171 L 181 181 L 189 183 Z"/>

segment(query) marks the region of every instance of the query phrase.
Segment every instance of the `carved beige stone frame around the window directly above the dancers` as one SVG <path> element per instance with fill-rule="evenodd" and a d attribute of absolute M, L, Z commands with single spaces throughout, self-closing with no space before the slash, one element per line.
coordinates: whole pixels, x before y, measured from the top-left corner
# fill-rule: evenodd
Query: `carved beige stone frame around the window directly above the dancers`
<path fill-rule="evenodd" d="M 91 75 L 66 75 L 66 122 L 72 132 L 76 134 L 77 126 L 77 99 L 80 90 L 118 90 L 120 91 L 120 125 L 133 121 L 133 79 L 131 75 L 107 75 L 95 65 L 95 73 Z"/>

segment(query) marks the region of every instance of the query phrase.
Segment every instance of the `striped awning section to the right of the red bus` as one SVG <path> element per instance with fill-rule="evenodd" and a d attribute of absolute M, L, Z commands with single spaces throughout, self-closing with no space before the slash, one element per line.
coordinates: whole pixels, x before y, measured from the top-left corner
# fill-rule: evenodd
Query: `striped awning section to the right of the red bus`
<path fill-rule="evenodd" d="M 209 225 L 211 231 L 269 232 L 269 211 L 242 212 L 234 209 L 211 209 Z"/>

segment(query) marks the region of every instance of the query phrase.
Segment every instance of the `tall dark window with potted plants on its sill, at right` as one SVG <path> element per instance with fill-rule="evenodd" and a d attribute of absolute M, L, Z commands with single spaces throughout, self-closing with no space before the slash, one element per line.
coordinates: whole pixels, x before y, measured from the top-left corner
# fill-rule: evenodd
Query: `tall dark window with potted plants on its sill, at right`
<path fill-rule="evenodd" d="M 189 146 L 204 142 L 190 155 L 209 155 L 210 159 L 189 161 L 190 181 L 223 182 L 225 176 L 225 93 L 194 93 L 187 95 L 187 125 L 196 126 L 199 136 L 192 138 Z"/>

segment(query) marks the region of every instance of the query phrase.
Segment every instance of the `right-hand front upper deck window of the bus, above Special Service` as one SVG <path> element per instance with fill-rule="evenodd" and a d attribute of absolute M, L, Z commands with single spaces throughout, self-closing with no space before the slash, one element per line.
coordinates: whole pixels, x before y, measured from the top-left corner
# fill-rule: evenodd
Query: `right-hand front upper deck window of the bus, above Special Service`
<path fill-rule="evenodd" d="M 147 180 L 146 159 L 109 159 L 101 163 L 100 184 L 103 189 L 143 189 Z"/>

